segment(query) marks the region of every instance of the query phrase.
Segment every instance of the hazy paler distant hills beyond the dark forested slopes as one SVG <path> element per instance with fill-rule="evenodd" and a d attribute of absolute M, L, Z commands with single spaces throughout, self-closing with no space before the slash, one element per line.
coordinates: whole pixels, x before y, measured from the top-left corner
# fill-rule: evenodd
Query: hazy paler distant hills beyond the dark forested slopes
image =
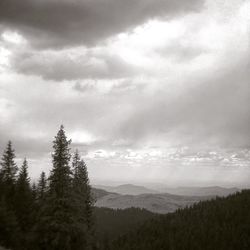
<path fill-rule="evenodd" d="M 183 187 L 171 189 L 170 191 L 176 192 L 176 194 L 171 193 L 142 193 L 143 191 L 150 192 L 150 189 L 146 189 L 141 186 L 135 185 L 121 185 L 118 187 L 98 186 L 106 187 L 112 192 L 102 190 L 99 188 L 92 189 L 96 203 L 96 207 L 106 207 L 112 209 L 127 209 L 131 207 L 144 208 L 153 213 L 167 214 L 176 211 L 180 208 L 185 208 L 191 206 L 199 201 L 209 200 L 216 196 L 227 196 L 229 194 L 238 191 L 236 188 L 221 188 L 221 187 Z M 115 191 L 120 192 L 132 192 L 136 191 L 138 195 L 131 194 L 120 194 Z M 185 193 L 186 195 L 179 195 L 180 193 Z M 192 195 L 193 194 L 193 195 Z"/>

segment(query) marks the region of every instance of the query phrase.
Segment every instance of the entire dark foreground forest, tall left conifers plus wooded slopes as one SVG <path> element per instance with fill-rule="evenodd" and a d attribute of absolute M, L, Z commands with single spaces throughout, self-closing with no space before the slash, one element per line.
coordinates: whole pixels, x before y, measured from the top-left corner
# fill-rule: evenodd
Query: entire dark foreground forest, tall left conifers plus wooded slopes
<path fill-rule="evenodd" d="M 61 126 L 48 178 L 43 172 L 31 184 L 27 160 L 18 168 L 8 143 L 0 165 L 0 249 L 250 249 L 250 191 L 168 215 L 94 208 L 86 164 L 70 144 Z"/>

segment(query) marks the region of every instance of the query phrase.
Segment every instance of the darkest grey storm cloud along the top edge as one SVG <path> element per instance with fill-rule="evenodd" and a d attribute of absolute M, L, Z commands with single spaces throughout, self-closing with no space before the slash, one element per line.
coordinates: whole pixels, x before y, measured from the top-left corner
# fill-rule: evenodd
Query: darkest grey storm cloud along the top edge
<path fill-rule="evenodd" d="M 93 45 L 148 19 L 197 11 L 201 0 L 1 0 L 0 24 L 37 48 Z"/>

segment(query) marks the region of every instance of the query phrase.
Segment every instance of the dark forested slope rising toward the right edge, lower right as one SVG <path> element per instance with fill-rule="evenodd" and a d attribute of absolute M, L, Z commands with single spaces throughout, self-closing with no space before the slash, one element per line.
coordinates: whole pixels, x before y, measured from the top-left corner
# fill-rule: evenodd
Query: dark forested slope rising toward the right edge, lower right
<path fill-rule="evenodd" d="M 112 250 L 248 250 L 250 191 L 157 216 L 113 243 Z"/>

